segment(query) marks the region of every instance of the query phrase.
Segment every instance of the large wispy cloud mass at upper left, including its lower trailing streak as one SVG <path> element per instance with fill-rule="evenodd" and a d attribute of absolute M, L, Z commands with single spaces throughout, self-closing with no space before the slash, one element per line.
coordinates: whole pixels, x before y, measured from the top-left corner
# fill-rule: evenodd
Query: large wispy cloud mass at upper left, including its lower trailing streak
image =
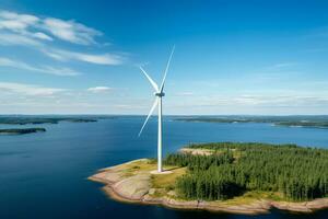
<path fill-rule="evenodd" d="M 0 45 L 27 46 L 60 61 L 78 60 L 95 65 L 120 65 L 122 55 L 82 53 L 57 48 L 57 39 L 79 45 L 98 44 L 103 33 L 73 20 L 42 18 L 0 10 Z"/>

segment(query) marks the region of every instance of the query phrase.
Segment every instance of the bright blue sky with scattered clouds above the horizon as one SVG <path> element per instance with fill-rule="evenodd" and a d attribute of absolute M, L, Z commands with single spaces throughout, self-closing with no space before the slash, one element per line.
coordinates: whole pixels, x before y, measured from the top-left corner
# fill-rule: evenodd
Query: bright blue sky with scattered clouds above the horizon
<path fill-rule="evenodd" d="M 328 114 L 327 1 L 0 1 L 0 114 Z"/>

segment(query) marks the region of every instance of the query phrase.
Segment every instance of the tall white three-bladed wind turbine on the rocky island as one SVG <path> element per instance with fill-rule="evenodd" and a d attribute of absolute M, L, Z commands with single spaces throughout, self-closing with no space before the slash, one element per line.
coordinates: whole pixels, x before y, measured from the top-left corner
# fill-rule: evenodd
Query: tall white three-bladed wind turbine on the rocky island
<path fill-rule="evenodd" d="M 154 101 L 153 106 L 151 107 L 138 136 L 140 136 L 142 134 L 142 130 L 143 130 L 144 126 L 147 125 L 149 118 L 153 114 L 155 107 L 159 106 L 159 136 L 157 136 L 157 172 L 159 173 L 163 172 L 163 169 L 162 169 L 162 97 L 165 95 L 163 90 L 164 90 L 165 79 L 166 79 L 166 74 L 168 71 L 168 67 L 169 67 L 169 62 L 171 62 L 174 49 L 175 49 L 175 46 L 173 46 L 168 61 L 166 64 L 166 68 L 164 71 L 164 77 L 163 77 L 161 87 L 159 87 L 154 82 L 154 80 L 145 72 L 145 70 L 142 67 L 139 67 L 141 72 L 145 76 L 145 78 L 149 80 L 149 82 L 152 84 L 152 87 L 155 90 L 155 92 L 154 92 L 155 101 Z"/>

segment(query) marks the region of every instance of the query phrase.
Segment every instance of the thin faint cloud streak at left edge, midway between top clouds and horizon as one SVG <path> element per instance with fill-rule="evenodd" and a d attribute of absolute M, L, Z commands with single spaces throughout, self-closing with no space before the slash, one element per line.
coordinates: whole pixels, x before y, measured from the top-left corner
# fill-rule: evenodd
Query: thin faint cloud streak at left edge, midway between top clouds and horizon
<path fill-rule="evenodd" d="M 23 61 L 17 61 L 4 57 L 0 57 L 0 67 L 11 67 L 16 69 L 23 69 L 27 71 L 34 71 L 34 72 L 40 72 L 40 73 L 49 73 L 55 76 L 78 76 L 80 72 L 66 68 L 66 67 L 51 67 L 51 66 L 40 66 L 40 67 L 34 67 L 28 64 L 25 64 Z"/>

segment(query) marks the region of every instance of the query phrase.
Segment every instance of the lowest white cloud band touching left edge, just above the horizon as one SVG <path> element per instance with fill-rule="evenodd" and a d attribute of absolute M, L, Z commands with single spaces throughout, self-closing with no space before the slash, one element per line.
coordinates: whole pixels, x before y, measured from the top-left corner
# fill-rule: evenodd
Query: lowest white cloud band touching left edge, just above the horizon
<path fill-rule="evenodd" d="M 65 91 L 63 89 L 45 88 L 34 84 L 0 82 L 2 93 L 16 93 L 20 95 L 51 96 Z"/>

